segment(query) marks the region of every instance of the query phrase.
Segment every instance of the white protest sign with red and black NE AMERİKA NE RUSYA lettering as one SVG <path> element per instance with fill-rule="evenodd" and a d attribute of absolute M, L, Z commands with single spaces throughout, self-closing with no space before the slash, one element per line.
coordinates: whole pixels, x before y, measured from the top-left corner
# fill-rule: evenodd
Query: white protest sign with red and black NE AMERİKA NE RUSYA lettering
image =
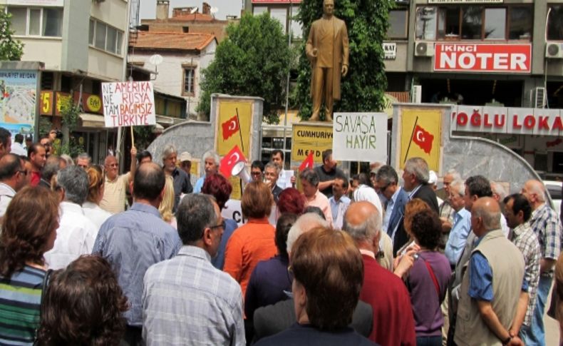
<path fill-rule="evenodd" d="M 156 124 L 153 82 L 102 83 L 105 127 Z"/>

